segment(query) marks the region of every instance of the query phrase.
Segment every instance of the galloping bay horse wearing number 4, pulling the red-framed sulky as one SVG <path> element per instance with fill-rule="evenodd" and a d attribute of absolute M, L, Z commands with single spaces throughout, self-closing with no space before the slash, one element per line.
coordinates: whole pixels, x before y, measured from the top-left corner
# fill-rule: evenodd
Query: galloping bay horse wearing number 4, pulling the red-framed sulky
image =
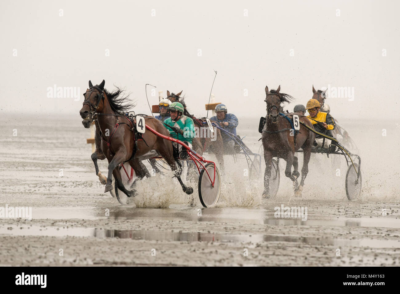
<path fill-rule="evenodd" d="M 186 187 L 180 179 L 179 170 L 176 167 L 175 159 L 172 151 L 172 143 L 162 137 L 158 137 L 154 133 L 147 131 L 142 134 L 142 140 L 135 140 L 136 121 L 132 123 L 126 115 L 125 111 L 132 107 L 126 104 L 126 97 L 118 98 L 120 91 L 109 93 L 104 89 L 105 81 L 100 85 L 92 85 L 89 81 L 89 89 L 84 93 L 84 102 L 80 115 L 83 119 L 84 127 L 90 127 L 93 117 L 97 116 L 98 135 L 101 139 L 101 150 L 108 160 L 108 176 L 104 193 L 112 190 L 112 175 L 116 180 L 116 186 L 128 197 L 134 197 L 137 193 L 135 189 L 128 191 L 125 189 L 118 166 L 121 163 L 128 162 L 134 169 L 139 179 L 143 179 L 148 173 L 139 158 L 146 156 L 152 150 L 157 151 L 170 165 L 175 177 L 178 179 L 182 190 L 190 195 L 193 193 L 191 187 Z M 159 133 L 169 136 L 169 132 L 158 119 L 153 117 L 144 117 L 146 125 Z M 107 131 L 108 130 L 108 131 Z M 108 134 L 104 137 L 104 134 Z M 99 151 L 98 151 L 99 152 Z M 96 152 L 95 152 L 96 153 Z M 99 153 L 96 153 L 98 155 Z M 147 171 L 147 173 L 146 173 Z M 96 170 L 97 172 L 97 170 Z"/>

